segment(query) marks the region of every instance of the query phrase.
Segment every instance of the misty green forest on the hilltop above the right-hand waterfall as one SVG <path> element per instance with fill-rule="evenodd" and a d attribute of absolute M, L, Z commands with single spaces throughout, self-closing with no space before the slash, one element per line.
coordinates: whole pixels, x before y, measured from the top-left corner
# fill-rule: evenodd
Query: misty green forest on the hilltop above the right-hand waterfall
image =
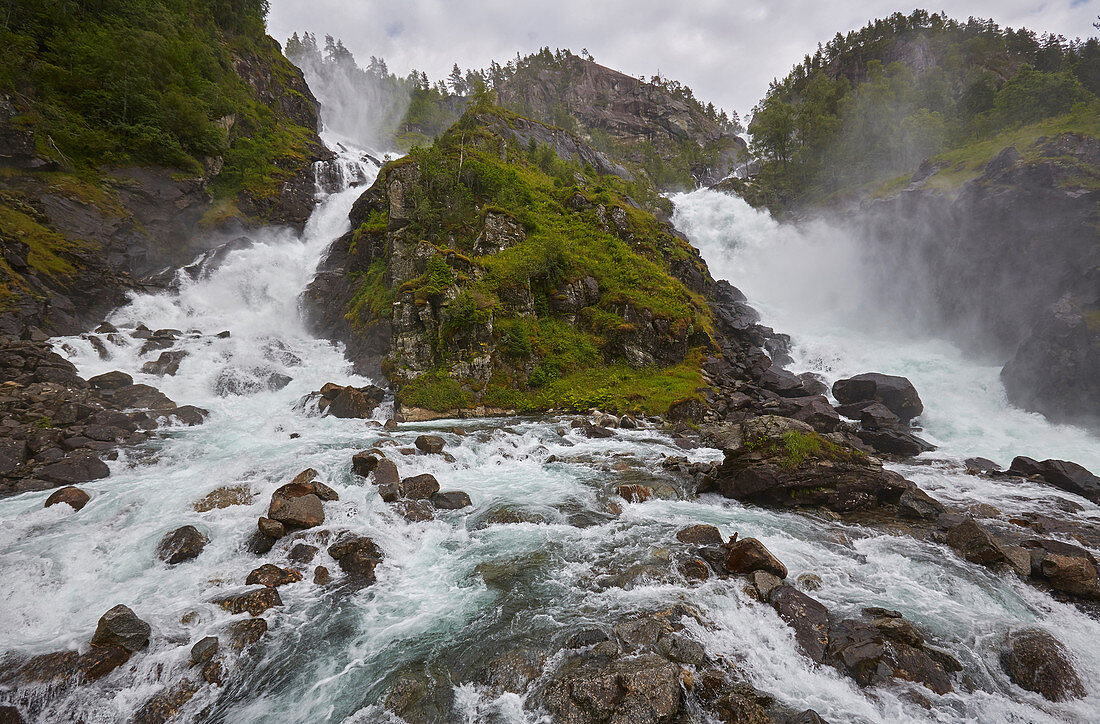
<path fill-rule="evenodd" d="M 1088 124 L 1100 116 L 1097 94 L 1097 39 L 895 13 L 837 34 L 772 84 L 749 124 L 762 161 L 754 200 L 780 208 L 881 187 L 927 156 L 1023 124 Z"/>

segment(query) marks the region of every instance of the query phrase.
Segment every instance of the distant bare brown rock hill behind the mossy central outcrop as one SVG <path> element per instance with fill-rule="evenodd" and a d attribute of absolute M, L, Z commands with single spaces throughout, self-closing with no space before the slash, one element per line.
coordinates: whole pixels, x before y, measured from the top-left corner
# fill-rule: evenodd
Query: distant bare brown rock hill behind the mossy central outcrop
<path fill-rule="evenodd" d="M 571 54 L 525 68 L 496 94 L 517 113 L 574 127 L 617 161 L 646 168 L 659 186 L 716 183 L 745 155 L 745 142 L 694 100 Z"/>

